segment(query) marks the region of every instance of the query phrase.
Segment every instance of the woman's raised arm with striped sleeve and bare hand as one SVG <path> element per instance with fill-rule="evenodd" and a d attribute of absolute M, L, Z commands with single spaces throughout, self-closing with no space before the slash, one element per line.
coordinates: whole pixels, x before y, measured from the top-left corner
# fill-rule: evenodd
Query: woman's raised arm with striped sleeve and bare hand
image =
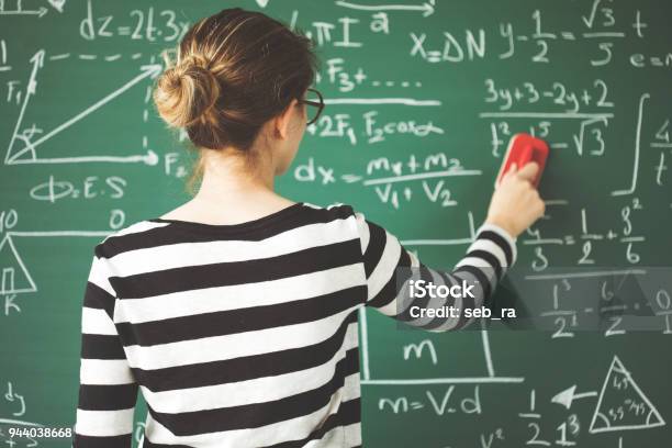
<path fill-rule="evenodd" d="M 473 322 L 474 317 L 466 316 L 464 310 L 490 306 L 490 298 L 516 260 L 515 238 L 544 214 L 544 202 L 529 181 L 537 168 L 536 164 L 528 164 L 517 171 L 514 166 L 504 176 L 493 193 L 485 222 L 477 231 L 464 257 L 449 272 L 424 266 L 394 235 L 357 213 L 368 287 L 367 305 L 432 332 L 458 329 Z M 411 296 L 411 281 L 418 280 L 423 280 L 424 285 L 430 282 L 444 289 L 464 284 L 472 288 L 470 294 L 461 298 Z M 456 313 L 439 317 L 432 314 L 447 306 L 452 306 Z"/>

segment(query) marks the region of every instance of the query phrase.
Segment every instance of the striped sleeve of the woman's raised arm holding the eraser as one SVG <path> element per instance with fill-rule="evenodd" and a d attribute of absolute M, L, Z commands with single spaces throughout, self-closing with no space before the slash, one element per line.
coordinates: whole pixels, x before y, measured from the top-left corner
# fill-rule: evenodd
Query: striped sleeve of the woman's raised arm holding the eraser
<path fill-rule="evenodd" d="M 419 309 L 438 311 L 453 306 L 463 311 L 468 307 L 490 307 L 490 299 L 497 283 L 516 261 L 515 239 L 502 227 L 493 224 L 483 224 L 478 228 L 464 257 L 457 262 L 452 271 L 447 272 L 423 265 L 414 254 L 400 244 L 394 235 L 366 220 L 361 213 L 356 213 L 356 219 L 367 277 L 367 305 L 388 316 L 430 332 L 463 328 L 474 318 L 467 317 L 462 312 L 456 313 L 456 316 L 437 317 L 432 313 L 418 316 Z M 467 281 L 474 285 L 473 296 L 441 298 L 437 296 L 439 294 L 434 294 L 432 298 L 413 298 L 406 288 L 410 280 L 424 280 L 437 287 L 448 288 Z"/>

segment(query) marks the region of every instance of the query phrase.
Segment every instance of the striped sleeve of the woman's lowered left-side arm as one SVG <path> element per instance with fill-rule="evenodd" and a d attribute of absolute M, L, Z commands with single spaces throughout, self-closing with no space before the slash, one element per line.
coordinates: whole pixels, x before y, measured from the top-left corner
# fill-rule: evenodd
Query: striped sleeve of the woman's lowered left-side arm
<path fill-rule="evenodd" d="M 81 309 L 79 402 L 72 447 L 130 448 L 137 384 L 114 325 L 116 294 L 96 255 Z"/>

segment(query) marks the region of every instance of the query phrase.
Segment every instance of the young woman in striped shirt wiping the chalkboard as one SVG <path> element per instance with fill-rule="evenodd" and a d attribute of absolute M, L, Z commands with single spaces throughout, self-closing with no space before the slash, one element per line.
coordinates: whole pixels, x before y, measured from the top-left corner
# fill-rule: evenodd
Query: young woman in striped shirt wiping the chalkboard
<path fill-rule="evenodd" d="M 144 448 L 360 446 L 358 311 L 456 329 L 469 321 L 410 316 L 397 268 L 479 281 L 474 299 L 415 305 L 480 306 L 515 261 L 516 236 L 544 214 L 534 164 L 505 175 L 451 272 L 348 205 L 275 192 L 323 109 L 315 70 L 310 41 L 258 12 L 226 9 L 184 35 L 154 99 L 199 148 L 200 189 L 96 246 L 76 447 L 131 447 L 138 389 Z"/>

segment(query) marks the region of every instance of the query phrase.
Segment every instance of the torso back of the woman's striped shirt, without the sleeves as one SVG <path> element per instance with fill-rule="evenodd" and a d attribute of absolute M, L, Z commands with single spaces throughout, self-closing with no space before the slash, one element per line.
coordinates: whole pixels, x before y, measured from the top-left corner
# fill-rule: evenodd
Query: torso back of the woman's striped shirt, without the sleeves
<path fill-rule="evenodd" d="M 359 424 L 367 289 L 351 209 L 299 203 L 240 225 L 154 219 L 98 250 L 149 410 L 145 447 L 303 446 L 323 422 L 323 433 Z M 128 407 L 133 388 L 121 388 Z M 360 445 L 354 429 L 331 443 Z"/>

